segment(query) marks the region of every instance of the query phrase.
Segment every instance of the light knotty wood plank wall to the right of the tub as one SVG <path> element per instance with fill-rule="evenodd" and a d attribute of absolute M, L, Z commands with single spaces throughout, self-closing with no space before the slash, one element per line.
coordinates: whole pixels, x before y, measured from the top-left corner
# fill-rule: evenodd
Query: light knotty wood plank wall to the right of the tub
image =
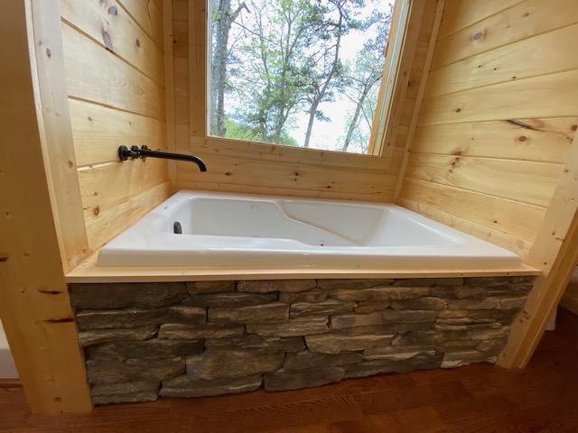
<path fill-rule="evenodd" d="M 397 202 L 526 256 L 578 125 L 578 3 L 447 0 Z"/>

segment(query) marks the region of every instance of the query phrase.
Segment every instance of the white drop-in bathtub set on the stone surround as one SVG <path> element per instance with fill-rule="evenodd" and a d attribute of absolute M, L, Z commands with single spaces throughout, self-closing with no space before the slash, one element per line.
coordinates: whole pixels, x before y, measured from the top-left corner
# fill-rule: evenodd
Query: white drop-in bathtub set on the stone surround
<path fill-rule="evenodd" d="M 175 223 L 182 234 L 174 233 Z M 182 190 L 105 245 L 99 266 L 508 269 L 520 258 L 403 207 Z"/>

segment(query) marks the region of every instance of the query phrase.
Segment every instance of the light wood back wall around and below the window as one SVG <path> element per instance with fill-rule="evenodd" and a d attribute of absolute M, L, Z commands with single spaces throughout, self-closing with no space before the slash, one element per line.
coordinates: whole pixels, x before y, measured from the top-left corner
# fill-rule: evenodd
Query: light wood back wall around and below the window
<path fill-rule="evenodd" d="M 197 10 L 190 11 L 189 5 Z M 409 124 L 417 106 L 417 91 L 436 5 L 436 0 L 424 2 L 415 56 L 407 69 L 409 82 L 397 125 L 394 150 L 390 156 L 380 158 L 205 137 L 204 89 L 193 89 L 192 104 L 190 100 L 191 72 L 196 74 L 193 82 L 202 85 L 205 79 L 202 47 L 197 53 L 198 59 L 194 62 L 189 59 L 190 29 L 202 26 L 205 20 L 204 5 L 202 1 L 172 0 L 176 148 L 179 152 L 199 155 L 209 168 L 208 172 L 199 173 L 191 164 L 177 163 L 177 189 L 393 201 Z M 190 16 L 193 23 L 190 23 Z M 191 64 L 196 66 L 193 68 Z"/>

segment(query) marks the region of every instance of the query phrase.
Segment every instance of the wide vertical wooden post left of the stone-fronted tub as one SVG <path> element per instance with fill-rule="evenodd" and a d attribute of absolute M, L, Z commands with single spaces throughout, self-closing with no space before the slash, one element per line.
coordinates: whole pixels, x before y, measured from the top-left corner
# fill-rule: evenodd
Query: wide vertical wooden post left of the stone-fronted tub
<path fill-rule="evenodd" d="M 44 7 L 55 5 L 55 1 L 44 2 Z M 58 41 L 60 16 L 47 16 L 57 20 L 45 28 L 59 32 Z M 77 233 L 79 221 L 74 216 L 81 216 L 81 207 L 76 208 L 79 197 L 74 183 L 55 191 L 76 168 L 73 152 L 66 147 L 68 111 L 58 109 L 66 94 L 44 94 L 56 105 L 42 107 L 39 83 L 47 77 L 38 76 L 36 52 L 43 52 L 48 60 L 62 59 L 57 44 L 53 46 L 51 38 L 35 40 L 33 29 L 31 0 L 4 4 L 0 14 L 4 41 L 0 58 L 7 60 L 0 68 L 0 82 L 5 84 L 0 95 L 0 316 L 32 410 L 87 411 L 91 410 L 89 386 L 63 273 L 63 265 L 73 263 L 69 259 L 75 253 L 69 256 L 62 251 L 69 245 L 70 251 L 83 253 L 84 242 L 80 236 L 70 244 L 59 236 L 61 230 Z M 64 130 L 47 128 L 46 123 Z M 47 143 L 63 147 L 49 152 Z M 70 170 L 59 171 L 61 162 Z M 72 226 L 61 226 L 61 221 Z"/>

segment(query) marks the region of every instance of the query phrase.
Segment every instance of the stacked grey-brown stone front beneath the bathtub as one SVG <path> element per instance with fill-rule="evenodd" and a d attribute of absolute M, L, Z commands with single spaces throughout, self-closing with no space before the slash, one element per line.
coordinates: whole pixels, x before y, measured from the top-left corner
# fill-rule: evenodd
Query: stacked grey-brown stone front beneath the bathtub
<path fill-rule="evenodd" d="M 533 277 L 71 284 L 95 404 L 494 363 Z"/>

